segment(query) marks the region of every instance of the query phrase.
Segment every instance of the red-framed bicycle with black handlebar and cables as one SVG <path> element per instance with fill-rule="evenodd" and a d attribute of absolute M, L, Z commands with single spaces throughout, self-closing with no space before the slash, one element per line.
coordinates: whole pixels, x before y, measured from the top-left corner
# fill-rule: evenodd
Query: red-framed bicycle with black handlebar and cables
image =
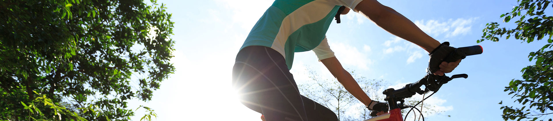
<path fill-rule="evenodd" d="M 467 46 L 463 48 L 457 48 L 455 51 L 453 51 L 449 56 L 444 59 L 446 62 L 452 62 L 456 61 L 458 59 L 465 59 L 466 56 L 469 55 L 478 55 L 482 54 L 483 49 L 480 45 L 474 45 L 474 46 Z M 382 94 L 386 95 L 386 98 L 384 98 L 384 101 L 388 103 L 389 111 L 387 114 L 382 114 L 377 117 L 369 118 L 363 121 L 403 121 L 407 118 L 409 113 L 413 111 L 413 109 L 416 109 L 419 111 L 419 109 L 416 108 L 416 106 L 424 101 L 425 99 L 432 96 L 432 94 L 436 93 L 438 90 L 440 90 L 441 86 L 445 83 L 451 81 L 453 78 L 467 78 L 467 74 L 459 74 L 459 75 L 453 75 L 451 77 L 448 77 L 446 75 L 439 76 L 439 75 L 433 75 L 431 73 L 427 73 L 426 76 L 424 76 L 421 80 L 415 82 L 415 83 L 409 83 L 405 85 L 405 87 L 400 88 L 399 90 L 394 90 L 394 88 L 389 88 L 388 90 L 384 90 Z M 421 90 L 421 86 L 425 86 L 425 90 Z M 432 94 L 430 94 L 428 97 L 422 99 L 419 103 L 416 103 L 415 106 L 406 106 L 403 103 L 405 102 L 405 98 L 409 98 L 414 96 L 416 93 L 418 94 L 424 94 L 432 91 Z M 399 102 L 399 103 L 398 103 Z M 401 115 L 401 109 L 410 108 L 409 112 L 405 115 L 405 118 Z M 388 109 L 383 109 L 383 111 Z M 420 111 L 419 111 L 420 112 Z M 420 112 L 422 120 L 424 121 L 424 116 Z"/>

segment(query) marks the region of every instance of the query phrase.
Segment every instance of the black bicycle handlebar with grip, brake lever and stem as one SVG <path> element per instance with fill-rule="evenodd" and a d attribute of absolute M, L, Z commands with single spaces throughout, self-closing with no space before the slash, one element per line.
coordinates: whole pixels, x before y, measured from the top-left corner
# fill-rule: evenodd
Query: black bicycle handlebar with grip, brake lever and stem
<path fill-rule="evenodd" d="M 463 48 L 457 48 L 454 51 L 451 52 L 444 61 L 446 62 L 453 62 L 457 61 L 459 59 L 465 59 L 466 56 L 469 55 L 478 55 L 482 54 L 483 49 L 480 45 L 474 45 L 474 46 L 467 46 Z M 409 83 L 405 85 L 405 87 L 400 88 L 399 90 L 394 90 L 394 88 L 389 88 L 388 90 L 384 90 L 382 92 L 386 95 L 386 98 L 384 101 L 388 101 L 388 105 L 390 106 L 390 110 L 396 109 L 396 108 L 405 108 L 403 107 L 403 102 L 405 102 L 403 99 L 413 97 L 415 93 L 423 94 L 427 93 L 429 91 L 436 92 L 440 89 L 442 85 L 445 83 L 451 81 L 453 78 L 467 78 L 467 74 L 460 74 L 460 75 L 453 75 L 451 77 L 448 76 L 439 76 L 439 75 L 433 75 L 432 73 L 426 73 L 426 76 L 424 76 L 422 79 L 415 83 Z M 425 90 L 421 90 L 421 86 L 425 86 Z M 398 104 L 398 101 L 400 104 Z"/>

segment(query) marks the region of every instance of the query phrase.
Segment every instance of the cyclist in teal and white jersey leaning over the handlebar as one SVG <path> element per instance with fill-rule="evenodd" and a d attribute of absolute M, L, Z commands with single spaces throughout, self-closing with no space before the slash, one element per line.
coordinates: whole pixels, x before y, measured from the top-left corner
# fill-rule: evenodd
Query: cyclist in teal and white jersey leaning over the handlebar
<path fill-rule="evenodd" d="M 342 7 L 343 6 L 343 7 Z M 342 8 L 341 13 L 337 13 Z M 346 90 L 371 111 L 384 114 L 385 103 L 373 101 L 343 69 L 328 46 L 326 31 L 333 17 L 350 9 L 430 54 L 430 73 L 451 72 L 461 60 L 442 62 L 455 48 L 425 34 L 409 19 L 376 0 L 276 0 L 254 25 L 233 67 L 233 87 L 244 106 L 267 121 L 337 120 L 336 114 L 299 93 L 290 73 L 294 52 L 313 50 Z"/>

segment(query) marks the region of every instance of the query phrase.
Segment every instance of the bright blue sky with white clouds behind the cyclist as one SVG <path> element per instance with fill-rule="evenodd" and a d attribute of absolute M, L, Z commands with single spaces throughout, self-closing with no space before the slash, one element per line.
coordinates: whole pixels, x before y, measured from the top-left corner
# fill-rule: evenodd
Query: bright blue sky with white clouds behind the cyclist
<path fill-rule="evenodd" d="M 260 114 L 240 104 L 231 88 L 234 57 L 255 22 L 272 4 L 270 0 L 158 1 L 166 4 L 175 22 L 174 58 L 176 72 L 154 91 L 152 101 L 132 101 L 155 109 L 157 120 L 260 120 Z M 526 44 L 520 40 L 476 43 L 486 23 L 502 22 L 500 14 L 510 12 L 515 0 L 494 1 L 380 1 L 412 20 L 440 42 L 454 47 L 482 45 L 484 53 L 468 56 L 447 75 L 467 73 L 427 100 L 441 114 L 429 120 L 503 120 L 499 103 L 512 104 L 503 92 L 510 80 L 521 78 L 520 70 L 534 62 L 528 53 L 546 41 Z M 505 24 L 506 27 L 514 27 Z M 342 23 L 333 22 L 327 32 L 331 48 L 348 71 L 384 80 L 397 88 L 418 81 L 425 74 L 427 52 L 387 33 L 371 20 L 350 12 Z M 298 83 L 308 80 L 305 68 L 330 76 L 311 51 L 296 53 L 291 72 Z M 426 102 L 426 101 L 425 101 Z M 514 105 L 517 106 L 517 105 Z M 142 109 L 133 120 L 140 120 Z M 447 117 L 451 115 L 451 117 Z"/>

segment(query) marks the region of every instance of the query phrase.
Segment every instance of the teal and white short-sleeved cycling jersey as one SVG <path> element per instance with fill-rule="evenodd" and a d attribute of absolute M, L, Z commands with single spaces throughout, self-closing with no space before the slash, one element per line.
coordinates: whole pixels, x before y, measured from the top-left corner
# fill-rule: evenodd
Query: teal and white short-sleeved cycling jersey
<path fill-rule="evenodd" d="M 294 52 L 314 50 L 319 60 L 333 57 L 325 34 L 338 8 L 353 9 L 363 0 L 276 0 L 249 32 L 242 48 L 267 46 L 292 67 Z M 321 41 L 324 43 L 321 43 Z M 326 57 L 326 58 L 325 58 Z"/>

